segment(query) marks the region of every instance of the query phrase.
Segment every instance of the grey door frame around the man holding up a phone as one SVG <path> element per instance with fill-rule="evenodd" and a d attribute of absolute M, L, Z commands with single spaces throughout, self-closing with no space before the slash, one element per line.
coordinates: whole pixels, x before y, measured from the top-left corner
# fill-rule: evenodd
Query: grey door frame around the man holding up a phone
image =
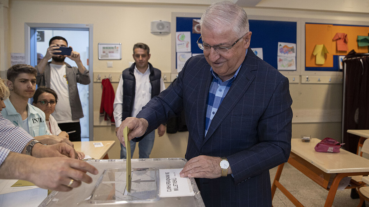
<path fill-rule="evenodd" d="M 86 30 L 89 31 L 89 71 L 90 81 L 89 84 L 89 139 L 93 141 L 93 24 L 54 24 L 54 23 L 24 23 L 24 57 L 25 64 L 35 65 L 35 58 L 31 59 L 31 50 L 34 50 L 34 54 L 37 56 L 35 44 L 36 29 L 66 29 L 66 30 Z"/>

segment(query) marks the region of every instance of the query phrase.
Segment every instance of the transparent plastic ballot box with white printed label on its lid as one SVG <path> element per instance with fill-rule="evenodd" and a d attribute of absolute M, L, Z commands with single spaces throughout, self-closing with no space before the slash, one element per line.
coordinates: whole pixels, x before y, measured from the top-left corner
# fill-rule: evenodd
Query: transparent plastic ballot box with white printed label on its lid
<path fill-rule="evenodd" d="M 160 169 L 183 168 L 186 159 L 131 159 L 131 191 L 126 189 L 125 159 L 95 159 L 86 161 L 99 170 L 91 184 L 83 183 L 70 192 L 53 191 L 39 207 L 95 206 L 190 206 L 204 207 L 196 182 L 189 178 L 190 196 L 164 197 L 160 194 Z M 185 184 L 187 185 L 187 184 Z"/>

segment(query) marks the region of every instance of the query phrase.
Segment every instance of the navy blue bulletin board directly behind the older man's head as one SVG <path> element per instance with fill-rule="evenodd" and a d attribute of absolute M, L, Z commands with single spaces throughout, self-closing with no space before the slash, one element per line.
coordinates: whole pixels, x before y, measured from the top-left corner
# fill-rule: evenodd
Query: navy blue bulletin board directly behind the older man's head
<path fill-rule="evenodd" d="M 191 32 L 191 52 L 203 53 L 197 46 L 200 34 L 192 33 L 193 19 L 198 17 L 176 17 L 176 32 Z M 251 35 L 251 48 L 263 48 L 263 59 L 277 68 L 278 42 L 296 43 L 297 22 L 249 20 Z M 298 46 L 296 46 L 297 48 Z M 297 65 L 297 64 L 296 64 Z"/>

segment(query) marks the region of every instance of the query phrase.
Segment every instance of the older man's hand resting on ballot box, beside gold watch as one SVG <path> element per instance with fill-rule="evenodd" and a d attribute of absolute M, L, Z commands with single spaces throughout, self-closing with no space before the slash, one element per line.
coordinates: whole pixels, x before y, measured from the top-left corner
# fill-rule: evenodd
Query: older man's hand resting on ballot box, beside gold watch
<path fill-rule="evenodd" d="M 220 168 L 220 157 L 200 155 L 190 159 L 180 172 L 182 178 L 219 178 L 222 175 Z M 228 174 L 230 174 L 228 168 Z"/>

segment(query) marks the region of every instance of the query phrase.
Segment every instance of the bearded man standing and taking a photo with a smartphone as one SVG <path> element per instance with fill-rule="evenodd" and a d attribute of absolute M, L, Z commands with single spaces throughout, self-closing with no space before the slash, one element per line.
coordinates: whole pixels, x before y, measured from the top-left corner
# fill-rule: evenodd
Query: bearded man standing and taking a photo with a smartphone
<path fill-rule="evenodd" d="M 64 47 L 64 48 L 63 48 Z M 70 49 L 72 47 L 69 46 Z M 77 83 L 90 83 L 89 71 L 83 66 L 80 55 L 76 51 L 67 54 L 68 42 L 61 36 L 55 36 L 49 41 L 45 57 L 37 64 L 37 85 L 44 85 L 58 94 L 58 104 L 52 116 L 58 122 L 62 131 L 76 131 L 69 134 L 70 141 L 81 141 L 81 126 L 79 119 L 83 117 L 82 105 L 79 99 Z M 65 63 L 65 58 L 76 62 L 77 67 Z M 48 62 L 51 59 L 51 62 Z"/>

